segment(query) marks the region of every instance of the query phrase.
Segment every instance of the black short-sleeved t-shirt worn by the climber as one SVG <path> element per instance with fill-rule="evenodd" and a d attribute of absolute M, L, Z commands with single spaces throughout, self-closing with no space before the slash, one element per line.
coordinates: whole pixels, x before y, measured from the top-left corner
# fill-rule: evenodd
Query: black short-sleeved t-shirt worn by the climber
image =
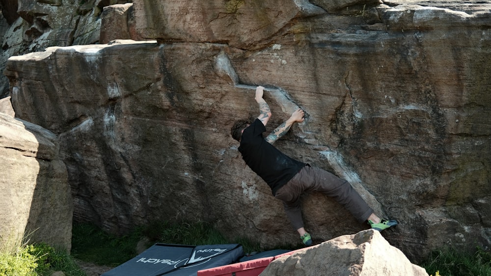
<path fill-rule="evenodd" d="M 257 175 L 259 175 L 271 188 L 273 195 L 292 179 L 300 169 L 305 166 L 294 160 L 263 138 L 266 127 L 256 119 L 242 133 L 239 152 Z"/>

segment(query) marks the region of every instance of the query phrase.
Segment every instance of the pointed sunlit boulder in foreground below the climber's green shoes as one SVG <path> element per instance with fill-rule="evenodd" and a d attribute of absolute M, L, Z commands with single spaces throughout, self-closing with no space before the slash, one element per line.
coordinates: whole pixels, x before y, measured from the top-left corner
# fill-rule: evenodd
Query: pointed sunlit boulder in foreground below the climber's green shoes
<path fill-rule="evenodd" d="M 274 260 L 261 276 L 428 276 L 375 230 L 345 235 Z"/>

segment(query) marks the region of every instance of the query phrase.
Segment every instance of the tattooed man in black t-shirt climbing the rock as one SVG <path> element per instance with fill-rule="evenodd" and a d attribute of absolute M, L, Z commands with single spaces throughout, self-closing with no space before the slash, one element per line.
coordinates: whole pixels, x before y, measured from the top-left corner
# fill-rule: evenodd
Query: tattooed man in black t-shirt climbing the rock
<path fill-rule="evenodd" d="M 353 189 L 350 183 L 332 173 L 294 160 L 273 146 L 274 141 L 285 135 L 294 123 L 303 122 L 304 112 L 299 109 L 278 126 L 266 138 L 266 124 L 271 110 L 263 99 L 264 87 L 257 86 L 255 100 L 259 104 L 259 116 L 254 122 L 239 120 L 231 129 L 232 138 L 240 142 L 242 158 L 271 188 L 273 196 L 283 202 L 285 213 L 296 229 L 303 244 L 309 246 L 312 239 L 303 227 L 300 195 L 303 192 L 319 192 L 333 197 L 360 222 L 368 221 L 372 229 L 382 231 L 397 225 L 396 220 L 382 220 Z"/>

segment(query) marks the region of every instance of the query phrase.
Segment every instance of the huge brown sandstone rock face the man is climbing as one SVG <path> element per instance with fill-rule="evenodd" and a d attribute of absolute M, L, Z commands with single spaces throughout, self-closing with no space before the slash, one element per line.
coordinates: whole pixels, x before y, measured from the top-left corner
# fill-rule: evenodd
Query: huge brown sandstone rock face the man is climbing
<path fill-rule="evenodd" d="M 119 233 L 205 220 L 265 246 L 300 242 L 229 135 L 257 116 L 263 85 L 268 131 L 307 113 L 275 145 L 398 219 L 383 235 L 411 260 L 446 244 L 491 246 L 491 6 L 254 3 L 135 0 L 136 31 L 159 43 L 9 59 L 16 116 L 59 136 L 74 219 Z M 317 194 L 303 210 L 314 242 L 368 227 Z"/>

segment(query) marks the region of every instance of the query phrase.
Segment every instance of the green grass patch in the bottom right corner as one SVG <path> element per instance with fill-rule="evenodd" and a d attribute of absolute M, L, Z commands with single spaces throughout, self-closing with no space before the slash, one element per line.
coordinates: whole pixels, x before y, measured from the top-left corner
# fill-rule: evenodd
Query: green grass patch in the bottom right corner
<path fill-rule="evenodd" d="M 491 253 L 479 247 L 474 254 L 445 248 L 432 252 L 420 266 L 430 275 L 491 276 Z"/>

